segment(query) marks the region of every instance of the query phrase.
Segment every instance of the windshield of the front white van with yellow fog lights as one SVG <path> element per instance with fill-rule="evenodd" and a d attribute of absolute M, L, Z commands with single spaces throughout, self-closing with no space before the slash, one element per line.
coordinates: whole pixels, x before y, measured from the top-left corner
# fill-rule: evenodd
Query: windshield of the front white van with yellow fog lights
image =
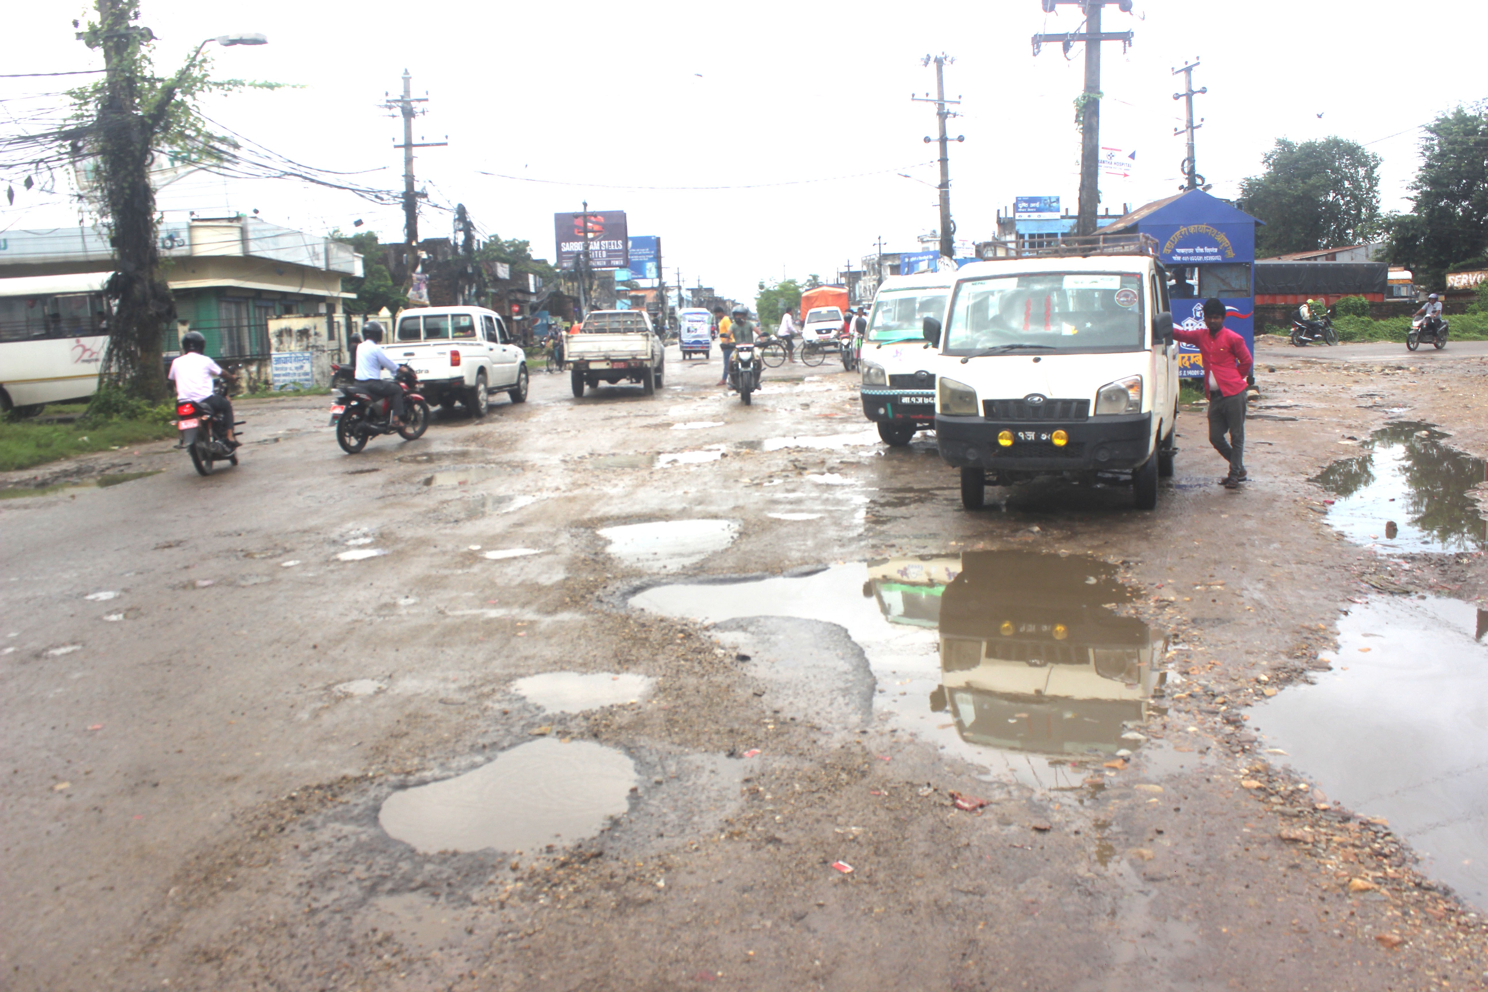
<path fill-rule="evenodd" d="M 1144 348 L 1141 277 L 1040 272 L 957 286 L 945 354 L 1018 351 L 1024 345 L 1086 352 Z"/>

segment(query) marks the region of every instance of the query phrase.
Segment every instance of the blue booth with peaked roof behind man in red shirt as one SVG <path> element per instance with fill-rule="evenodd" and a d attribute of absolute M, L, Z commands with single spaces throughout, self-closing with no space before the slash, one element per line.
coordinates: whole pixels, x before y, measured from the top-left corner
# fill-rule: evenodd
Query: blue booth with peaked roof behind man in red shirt
<path fill-rule="evenodd" d="M 1204 300 L 1225 303 L 1225 326 L 1256 348 L 1256 220 L 1202 189 L 1189 189 L 1138 207 L 1101 233 L 1144 233 L 1158 242 L 1168 269 L 1173 323 L 1186 330 L 1204 327 Z M 1183 345 L 1180 375 L 1202 378 L 1204 366 L 1193 345 Z"/>

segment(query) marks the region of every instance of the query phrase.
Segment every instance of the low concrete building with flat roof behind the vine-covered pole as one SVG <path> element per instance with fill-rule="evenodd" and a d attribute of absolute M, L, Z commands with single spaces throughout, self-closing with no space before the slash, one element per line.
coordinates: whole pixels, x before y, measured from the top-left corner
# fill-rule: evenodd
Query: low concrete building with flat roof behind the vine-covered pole
<path fill-rule="evenodd" d="M 176 296 L 177 335 L 199 330 L 207 354 L 262 363 L 277 351 L 269 320 L 317 318 L 336 341 L 342 277 L 362 275 L 362 256 L 329 238 L 280 228 L 257 217 L 192 217 L 159 229 L 161 275 Z M 107 231 L 58 228 L 0 235 L 0 278 L 112 272 Z M 168 333 L 165 351 L 179 338 Z"/>

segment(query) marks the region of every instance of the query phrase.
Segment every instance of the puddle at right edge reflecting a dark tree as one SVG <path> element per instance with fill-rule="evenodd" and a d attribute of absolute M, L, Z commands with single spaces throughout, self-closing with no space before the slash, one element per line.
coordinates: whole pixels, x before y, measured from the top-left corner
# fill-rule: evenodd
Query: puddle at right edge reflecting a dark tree
<path fill-rule="evenodd" d="M 1312 482 L 1336 494 L 1327 522 L 1348 540 L 1382 552 L 1460 552 L 1488 547 L 1472 488 L 1488 464 L 1443 443 L 1430 424 L 1388 424 Z"/>

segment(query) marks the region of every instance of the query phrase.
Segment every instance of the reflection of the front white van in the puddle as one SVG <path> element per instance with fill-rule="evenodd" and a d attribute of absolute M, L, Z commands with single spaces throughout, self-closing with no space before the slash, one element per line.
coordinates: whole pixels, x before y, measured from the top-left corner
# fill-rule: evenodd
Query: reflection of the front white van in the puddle
<path fill-rule="evenodd" d="M 1126 598 L 1115 570 L 1086 558 L 963 555 L 939 598 L 942 686 L 931 708 L 949 711 L 970 744 L 1048 754 L 1129 747 L 1120 738 L 1147 717 L 1165 640 L 1101 605 Z"/>

